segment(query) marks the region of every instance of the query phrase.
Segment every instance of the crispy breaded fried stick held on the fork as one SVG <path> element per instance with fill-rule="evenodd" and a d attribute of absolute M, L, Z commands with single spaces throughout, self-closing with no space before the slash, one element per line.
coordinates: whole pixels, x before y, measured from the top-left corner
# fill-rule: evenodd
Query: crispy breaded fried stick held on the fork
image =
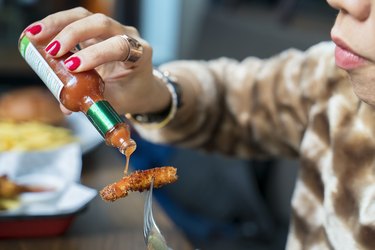
<path fill-rule="evenodd" d="M 121 180 L 104 187 L 100 196 L 105 201 L 115 201 L 128 195 L 129 191 L 142 192 L 150 189 L 154 178 L 154 187 L 159 188 L 177 181 L 177 169 L 171 166 L 137 170 L 125 175 Z"/>

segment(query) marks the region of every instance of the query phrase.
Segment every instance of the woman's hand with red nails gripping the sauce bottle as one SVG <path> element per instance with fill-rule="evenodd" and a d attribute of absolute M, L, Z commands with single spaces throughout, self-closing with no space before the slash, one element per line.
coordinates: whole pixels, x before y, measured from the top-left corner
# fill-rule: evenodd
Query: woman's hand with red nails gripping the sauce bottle
<path fill-rule="evenodd" d="M 134 27 L 78 7 L 49 15 L 25 31 L 32 42 L 48 41 L 46 51 L 54 57 L 79 45 L 66 67 L 72 72 L 96 69 L 106 83 L 106 98 L 119 113 L 155 112 L 168 105 L 167 88 L 152 74 L 152 48 Z M 142 45 L 135 63 L 124 61 L 129 55 L 124 34 Z"/>

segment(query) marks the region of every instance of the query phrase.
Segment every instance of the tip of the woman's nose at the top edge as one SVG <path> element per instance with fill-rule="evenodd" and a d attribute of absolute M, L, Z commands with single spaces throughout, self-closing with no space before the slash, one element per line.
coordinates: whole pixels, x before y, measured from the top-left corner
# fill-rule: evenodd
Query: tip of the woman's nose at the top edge
<path fill-rule="evenodd" d="M 327 0 L 328 4 L 344 14 L 364 21 L 370 16 L 371 0 Z"/>

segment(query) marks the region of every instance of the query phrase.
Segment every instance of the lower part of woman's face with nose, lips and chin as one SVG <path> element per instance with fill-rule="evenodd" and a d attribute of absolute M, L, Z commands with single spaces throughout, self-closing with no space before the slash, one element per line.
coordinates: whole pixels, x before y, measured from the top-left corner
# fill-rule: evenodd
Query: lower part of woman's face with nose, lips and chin
<path fill-rule="evenodd" d="M 331 31 L 338 67 L 354 92 L 375 106 L 375 0 L 327 0 L 339 13 Z"/>

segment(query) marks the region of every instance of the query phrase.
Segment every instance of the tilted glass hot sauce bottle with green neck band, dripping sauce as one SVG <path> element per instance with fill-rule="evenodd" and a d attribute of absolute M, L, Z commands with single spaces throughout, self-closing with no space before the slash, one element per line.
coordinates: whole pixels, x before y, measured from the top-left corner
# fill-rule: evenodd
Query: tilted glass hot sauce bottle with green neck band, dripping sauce
<path fill-rule="evenodd" d="M 45 52 L 44 47 L 32 44 L 24 34 L 18 44 L 22 57 L 57 100 L 73 112 L 83 112 L 106 143 L 126 156 L 126 172 L 136 143 L 130 138 L 129 126 L 104 99 L 103 80 L 95 70 L 70 72 L 65 67 L 64 60 L 71 56 L 72 52 L 53 58 Z"/>

